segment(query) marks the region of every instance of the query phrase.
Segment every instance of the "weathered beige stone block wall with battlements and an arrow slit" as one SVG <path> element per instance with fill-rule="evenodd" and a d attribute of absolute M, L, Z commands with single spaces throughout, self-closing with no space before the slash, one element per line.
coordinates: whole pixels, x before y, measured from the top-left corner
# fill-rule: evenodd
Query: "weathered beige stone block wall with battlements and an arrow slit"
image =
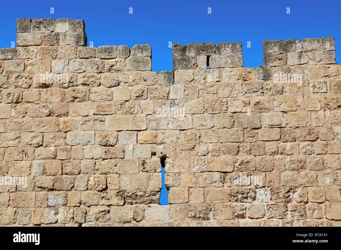
<path fill-rule="evenodd" d="M 264 41 L 256 68 L 174 44 L 161 72 L 149 44 L 86 45 L 83 20 L 18 19 L 0 49 L 0 176 L 27 178 L 0 179 L 2 226 L 341 226 L 332 37 Z"/>

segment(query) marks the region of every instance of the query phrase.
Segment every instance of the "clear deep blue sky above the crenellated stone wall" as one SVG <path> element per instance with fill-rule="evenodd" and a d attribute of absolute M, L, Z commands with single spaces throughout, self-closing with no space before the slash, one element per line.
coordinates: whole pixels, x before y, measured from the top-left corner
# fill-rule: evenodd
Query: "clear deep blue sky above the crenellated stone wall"
<path fill-rule="evenodd" d="M 17 18 L 70 18 L 85 20 L 88 45 L 93 41 L 94 47 L 150 43 L 153 71 L 172 70 L 169 41 L 186 45 L 241 41 L 244 67 L 257 67 L 263 62 L 263 40 L 333 36 L 340 62 L 340 6 L 341 1 L 332 0 L 2 1 L 0 47 L 11 47 L 15 41 Z"/>

